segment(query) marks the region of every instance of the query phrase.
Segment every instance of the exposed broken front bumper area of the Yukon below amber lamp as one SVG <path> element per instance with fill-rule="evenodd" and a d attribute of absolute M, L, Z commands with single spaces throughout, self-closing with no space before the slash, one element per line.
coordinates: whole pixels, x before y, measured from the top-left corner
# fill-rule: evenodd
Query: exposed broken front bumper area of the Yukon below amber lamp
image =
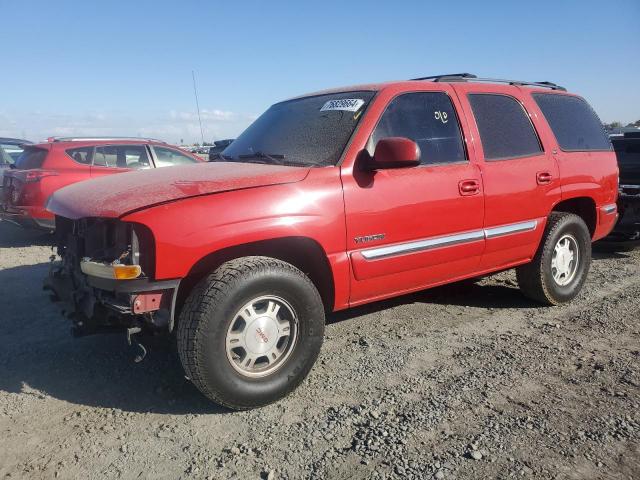
<path fill-rule="evenodd" d="M 72 320 L 76 336 L 124 331 L 173 330 L 180 280 L 154 282 L 146 278 L 113 280 L 51 264 L 44 289 Z"/>

